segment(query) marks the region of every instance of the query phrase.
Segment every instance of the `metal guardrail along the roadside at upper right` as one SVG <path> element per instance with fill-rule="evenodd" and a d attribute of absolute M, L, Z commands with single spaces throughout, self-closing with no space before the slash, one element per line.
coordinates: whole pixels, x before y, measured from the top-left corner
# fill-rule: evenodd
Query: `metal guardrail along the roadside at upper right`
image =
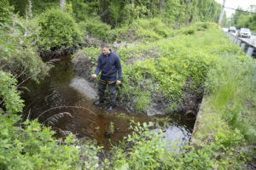
<path fill-rule="evenodd" d="M 240 37 L 236 37 L 233 34 L 230 34 L 229 32 L 224 32 L 229 38 L 230 41 L 241 47 L 241 50 L 243 50 L 247 55 L 253 57 L 253 59 L 256 59 L 256 47 L 254 47 L 253 44 L 246 42 L 242 40 Z"/>

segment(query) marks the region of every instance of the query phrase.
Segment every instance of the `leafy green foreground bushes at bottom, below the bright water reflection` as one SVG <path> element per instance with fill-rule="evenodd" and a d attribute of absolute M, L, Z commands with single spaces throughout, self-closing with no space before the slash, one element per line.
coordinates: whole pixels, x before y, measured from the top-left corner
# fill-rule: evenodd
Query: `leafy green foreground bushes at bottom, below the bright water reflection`
<path fill-rule="evenodd" d="M 153 130 L 154 123 L 131 122 L 132 133 L 110 150 L 111 158 L 105 160 L 107 169 L 238 169 L 247 160 L 236 150 L 218 143 L 195 147 L 184 144 L 177 147 L 162 137 L 162 130 Z M 218 150 L 222 150 L 218 155 Z M 221 159 L 219 159 L 221 157 Z M 242 158 L 241 158 L 242 157 Z M 106 163 L 108 162 L 108 163 Z"/>

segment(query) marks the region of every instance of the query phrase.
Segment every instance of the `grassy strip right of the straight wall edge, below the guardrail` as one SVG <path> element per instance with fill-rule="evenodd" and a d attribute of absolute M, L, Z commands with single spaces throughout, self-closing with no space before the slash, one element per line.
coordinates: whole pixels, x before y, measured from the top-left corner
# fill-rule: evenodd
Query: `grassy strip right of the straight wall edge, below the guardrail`
<path fill-rule="evenodd" d="M 194 138 L 199 144 L 215 141 L 224 147 L 251 150 L 247 145 L 255 145 L 256 139 L 255 59 L 223 54 L 219 61 L 220 67 L 209 72 L 200 127 Z"/>

